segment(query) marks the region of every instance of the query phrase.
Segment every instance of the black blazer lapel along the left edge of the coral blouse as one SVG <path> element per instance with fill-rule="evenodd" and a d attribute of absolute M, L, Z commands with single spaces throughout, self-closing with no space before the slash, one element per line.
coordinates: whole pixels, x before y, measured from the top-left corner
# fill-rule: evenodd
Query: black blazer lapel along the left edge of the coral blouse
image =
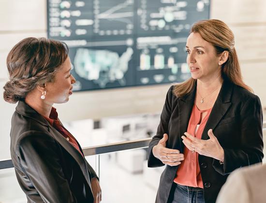
<path fill-rule="evenodd" d="M 193 104 L 194 104 L 194 98 L 196 93 L 196 83 L 193 88 L 193 90 L 186 96 L 183 96 L 178 99 L 178 113 L 179 113 L 179 145 L 181 149 L 181 153 L 183 153 L 184 144 L 181 140 L 181 136 L 184 134 L 184 132 L 187 131 L 188 125 L 189 125 L 189 119 L 191 116 Z"/>

